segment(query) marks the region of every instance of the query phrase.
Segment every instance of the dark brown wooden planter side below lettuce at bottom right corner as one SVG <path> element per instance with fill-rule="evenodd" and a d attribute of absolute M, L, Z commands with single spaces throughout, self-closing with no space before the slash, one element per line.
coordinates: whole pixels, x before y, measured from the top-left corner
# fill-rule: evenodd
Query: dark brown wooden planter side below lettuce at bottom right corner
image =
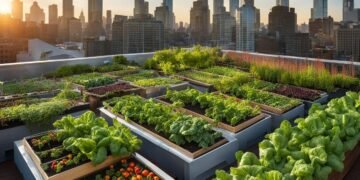
<path fill-rule="evenodd" d="M 354 166 L 358 158 L 360 157 L 360 144 L 358 144 L 354 150 L 345 153 L 344 160 L 344 171 L 332 172 L 329 176 L 329 180 L 342 180 L 349 173 L 351 168 Z"/>

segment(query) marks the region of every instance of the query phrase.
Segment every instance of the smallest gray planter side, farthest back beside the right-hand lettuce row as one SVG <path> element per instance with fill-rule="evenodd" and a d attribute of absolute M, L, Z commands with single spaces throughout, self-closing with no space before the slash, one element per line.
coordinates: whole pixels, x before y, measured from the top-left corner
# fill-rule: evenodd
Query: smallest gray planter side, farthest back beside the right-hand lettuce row
<path fill-rule="evenodd" d="M 264 113 L 270 114 L 272 118 L 272 129 L 276 129 L 280 127 L 281 122 L 284 120 L 290 121 L 292 124 L 294 124 L 294 120 L 300 117 L 305 116 L 305 105 L 301 104 L 283 114 L 275 114 L 272 112 L 268 112 L 263 110 Z"/>

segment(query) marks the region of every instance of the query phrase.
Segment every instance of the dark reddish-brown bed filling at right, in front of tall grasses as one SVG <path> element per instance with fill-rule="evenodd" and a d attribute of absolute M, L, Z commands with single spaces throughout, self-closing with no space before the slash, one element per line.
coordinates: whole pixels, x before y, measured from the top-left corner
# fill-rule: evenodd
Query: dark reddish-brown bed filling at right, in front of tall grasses
<path fill-rule="evenodd" d="M 290 98 L 302 99 L 307 101 L 315 101 L 320 98 L 320 92 L 304 89 L 301 87 L 284 86 L 281 85 L 272 91 L 276 94 L 281 94 Z"/>

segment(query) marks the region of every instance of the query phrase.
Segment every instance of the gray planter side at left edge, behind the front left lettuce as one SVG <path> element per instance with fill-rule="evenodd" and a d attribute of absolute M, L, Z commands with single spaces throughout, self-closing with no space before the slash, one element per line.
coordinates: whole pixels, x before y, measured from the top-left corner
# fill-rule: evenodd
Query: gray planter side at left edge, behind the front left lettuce
<path fill-rule="evenodd" d="M 71 114 L 61 115 L 57 118 L 54 118 L 54 120 L 49 121 L 48 124 L 44 126 L 17 126 L 9 129 L 0 130 L 0 163 L 12 159 L 13 157 L 9 157 L 6 155 L 7 152 L 10 152 L 13 150 L 13 143 L 14 141 L 18 141 L 23 139 L 24 137 L 31 136 L 46 130 L 50 130 L 52 123 L 55 122 L 55 120 L 61 119 L 64 116 L 74 116 L 79 117 L 80 115 L 84 114 L 87 110 L 84 111 L 78 111 Z M 48 129 L 47 129 L 48 128 Z M 12 154 L 12 153 L 10 153 Z"/>

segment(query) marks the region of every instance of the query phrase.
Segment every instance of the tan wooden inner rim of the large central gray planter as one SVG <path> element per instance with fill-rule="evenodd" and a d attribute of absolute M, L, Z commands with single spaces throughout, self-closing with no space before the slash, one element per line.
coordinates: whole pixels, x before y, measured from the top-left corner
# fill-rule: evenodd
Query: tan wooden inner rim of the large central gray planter
<path fill-rule="evenodd" d="M 108 108 L 108 110 L 109 110 L 110 112 L 113 112 L 113 111 L 112 111 L 112 108 Z M 116 116 L 118 116 L 119 118 L 125 120 L 125 117 L 124 117 L 123 115 L 121 115 L 121 114 L 119 114 L 119 113 L 115 113 L 115 112 L 113 112 L 113 113 L 114 113 Z M 192 152 L 186 150 L 185 148 L 182 148 L 181 146 L 179 146 L 179 145 L 171 142 L 171 141 L 168 140 L 167 138 L 164 138 L 164 137 L 158 135 L 157 133 L 152 132 L 152 131 L 150 131 L 149 129 L 141 126 L 140 124 L 136 123 L 135 121 L 132 121 L 132 120 L 129 120 L 129 119 L 128 119 L 127 121 L 128 121 L 131 125 L 133 125 L 133 126 L 135 126 L 136 128 L 140 129 L 141 131 L 144 131 L 144 132 L 146 132 L 146 133 L 154 136 L 155 138 L 161 140 L 164 144 L 166 144 L 166 145 L 168 145 L 168 146 L 176 149 L 177 151 L 181 152 L 181 153 L 184 154 L 185 156 L 187 156 L 187 157 L 189 157 L 189 158 L 192 158 L 192 159 L 196 159 L 197 157 L 200 157 L 201 155 L 206 154 L 206 153 L 208 153 L 208 152 L 210 152 L 210 151 L 212 151 L 212 150 L 214 150 L 214 149 L 216 149 L 216 148 L 220 147 L 221 145 L 226 144 L 226 143 L 228 142 L 226 139 L 222 139 L 221 141 L 213 144 L 213 145 L 210 146 L 210 147 L 202 148 L 202 149 L 199 149 L 198 151 L 192 153 Z"/>

